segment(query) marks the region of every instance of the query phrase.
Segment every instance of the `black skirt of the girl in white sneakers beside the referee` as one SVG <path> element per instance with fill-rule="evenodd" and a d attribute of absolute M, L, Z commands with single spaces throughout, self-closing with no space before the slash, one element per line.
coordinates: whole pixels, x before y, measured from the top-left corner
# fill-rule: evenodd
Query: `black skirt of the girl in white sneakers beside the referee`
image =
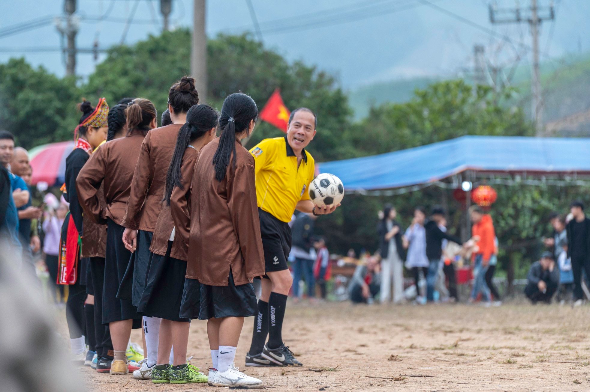
<path fill-rule="evenodd" d="M 209 286 L 199 284 L 196 279 L 185 279 L 181 317 L 198 317 L 199 320 L 207 320 L 222 317 L 250 317 L 257 312 L 254 287 L 251 283 L 236 286 L 231 269 L 227 286 Z"/>

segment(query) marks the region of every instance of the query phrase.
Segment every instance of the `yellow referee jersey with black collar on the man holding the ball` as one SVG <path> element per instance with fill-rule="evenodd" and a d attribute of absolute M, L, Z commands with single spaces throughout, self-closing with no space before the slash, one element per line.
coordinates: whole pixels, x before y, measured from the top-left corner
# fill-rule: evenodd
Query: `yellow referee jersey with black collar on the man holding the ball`
<path fill-rule="evenodd" d="M 255 161 L 258 207 L 278 220 L 290 222 L 297 202 L 309 200 L 307 189 L 315 171 L 313 157 L 303 150 L 298 169 L 286 136 L 264 139 L 250 153 Z"/>

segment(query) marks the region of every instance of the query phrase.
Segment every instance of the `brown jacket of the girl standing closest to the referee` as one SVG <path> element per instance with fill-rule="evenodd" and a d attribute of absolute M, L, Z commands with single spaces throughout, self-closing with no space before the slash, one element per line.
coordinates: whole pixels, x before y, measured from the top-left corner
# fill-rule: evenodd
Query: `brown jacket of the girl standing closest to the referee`
<path fill-rule="evenodd" d="M 254 185 L 254 157 L 235 140 L 233 157 L 221 182 L 213 156 L 219 139 L 201 149 L 192 177 L 191 230 L 186 278 L 211 286 L 235 285 L 264 275 L 264 253 Z"/>

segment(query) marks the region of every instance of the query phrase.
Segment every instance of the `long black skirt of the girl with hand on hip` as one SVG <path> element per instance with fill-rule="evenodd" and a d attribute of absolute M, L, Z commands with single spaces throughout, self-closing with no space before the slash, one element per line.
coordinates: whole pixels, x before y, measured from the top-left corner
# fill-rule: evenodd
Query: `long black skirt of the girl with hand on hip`
<path fill-rule="evenodd" d="M 129 299 L 118 299 L 117 291 L 129 264 L 131 252 L 123 245 L 123 226 L 107 222 L 107 250 L 104 259 L 103 324 L 135 319 L 133 328 L 141 328 L 141 316 Z"/>

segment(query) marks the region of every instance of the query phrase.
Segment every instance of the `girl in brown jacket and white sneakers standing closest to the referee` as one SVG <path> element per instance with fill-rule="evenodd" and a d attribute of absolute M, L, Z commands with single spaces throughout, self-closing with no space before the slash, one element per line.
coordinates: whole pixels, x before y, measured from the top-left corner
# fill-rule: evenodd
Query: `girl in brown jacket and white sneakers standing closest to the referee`
<path fill-rule="evenodd" d="M 201 150 L 192 177 L 181 317 L 208 320 L 213 361 L 209 384 L 214 386 L 262 383 L 233 365 L 244 317 L 257 311 L 252 279 L 264 275 L 254 158 L 240 142 L 254 129 L 257 117 L 248 95 L 225 98 L 221 137 Z"/>

